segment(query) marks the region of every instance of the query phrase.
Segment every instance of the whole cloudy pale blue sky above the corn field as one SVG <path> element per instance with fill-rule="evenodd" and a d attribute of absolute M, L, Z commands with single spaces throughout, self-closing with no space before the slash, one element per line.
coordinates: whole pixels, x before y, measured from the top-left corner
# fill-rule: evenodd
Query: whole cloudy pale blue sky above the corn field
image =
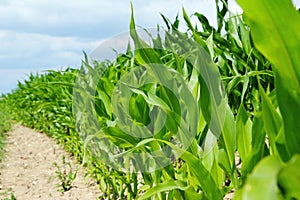
<path fill-rule="evenodd" d="M 300 0 L 299 0 L 300 1 Z M 163 26 L 185 7 L 216 23 L 213 0 L 132 0 L 136 24 Z M 230 7 L 238 10 L 234 1 Z M 299 5 L 299 4 L 298 4 Z M 82 51 L 128 31 L 129 0 L 1 0 L 0 94 L 10 92 L 30 72 L 78 67 Z M 182 21 L 182 23 L 184 23 Z"/>

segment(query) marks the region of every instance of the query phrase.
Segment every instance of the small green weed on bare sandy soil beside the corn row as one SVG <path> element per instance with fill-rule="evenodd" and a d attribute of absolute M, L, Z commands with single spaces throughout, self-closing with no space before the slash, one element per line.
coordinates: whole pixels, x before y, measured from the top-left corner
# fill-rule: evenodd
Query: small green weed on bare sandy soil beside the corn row
<path fill-rule="evenodd" d="M 73 172 L 72 165 L 70 162 L 66 162 L 66 156 L 62 156 L 62 166 L 59 166 L 56 162 L 53 166 L 57 167 L 55 173 L 58 176 L 59 183 L 57 183 L 58 191 L 66 192 L 72 188 L 72 183 L 74 182 L 78 169 Z"/>

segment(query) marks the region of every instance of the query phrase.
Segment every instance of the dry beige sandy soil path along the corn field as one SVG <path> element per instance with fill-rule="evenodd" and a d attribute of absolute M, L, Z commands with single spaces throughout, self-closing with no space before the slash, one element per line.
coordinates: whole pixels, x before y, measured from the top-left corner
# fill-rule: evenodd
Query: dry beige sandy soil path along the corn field
<path fill-rule="evenodd" d="M 101 195 L 94 183 L 83 178 L 82 170 L 69 191 L 57 191 L 59 180 L 53 163 L 63 166 L 62 156 L 66 155 L 66 161 L 74 168 L 79 164 L 45 134 L 20 125 L 8 134 L 7 152 L 0 169 L 0 199 L 10 198 L 11 193 L 17 200 L 91 200 Z"/>

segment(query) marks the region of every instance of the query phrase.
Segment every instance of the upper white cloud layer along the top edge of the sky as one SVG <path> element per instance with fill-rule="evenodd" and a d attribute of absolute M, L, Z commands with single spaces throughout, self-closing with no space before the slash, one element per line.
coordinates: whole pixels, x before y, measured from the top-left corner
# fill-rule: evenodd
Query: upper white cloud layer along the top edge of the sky
<path fill-rule="evenodd" d="M 183 5 L 188 13 L 214 11 L 205 0 L 133 1 L 137 24 L 147 27 L 162 23 L 160 12 L 173 20 Z M 99 39 L 128 30 L 130 12 L 130 0 L 11 0 L 0 4 L 0 21 L 2 29 Z"/>

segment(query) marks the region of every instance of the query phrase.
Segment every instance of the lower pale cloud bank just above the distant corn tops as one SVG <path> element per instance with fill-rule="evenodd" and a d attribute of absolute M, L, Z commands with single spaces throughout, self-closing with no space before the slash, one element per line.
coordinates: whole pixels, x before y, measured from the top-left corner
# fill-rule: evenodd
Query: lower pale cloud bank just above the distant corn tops
<path fill-rule="evenodd" d="M 58 37 L 39 33 L 0 31 L 0 94 L 17 86 L 31 72 L 78 67 L 82 51 L 90 52 L 101 40 Z"/>

